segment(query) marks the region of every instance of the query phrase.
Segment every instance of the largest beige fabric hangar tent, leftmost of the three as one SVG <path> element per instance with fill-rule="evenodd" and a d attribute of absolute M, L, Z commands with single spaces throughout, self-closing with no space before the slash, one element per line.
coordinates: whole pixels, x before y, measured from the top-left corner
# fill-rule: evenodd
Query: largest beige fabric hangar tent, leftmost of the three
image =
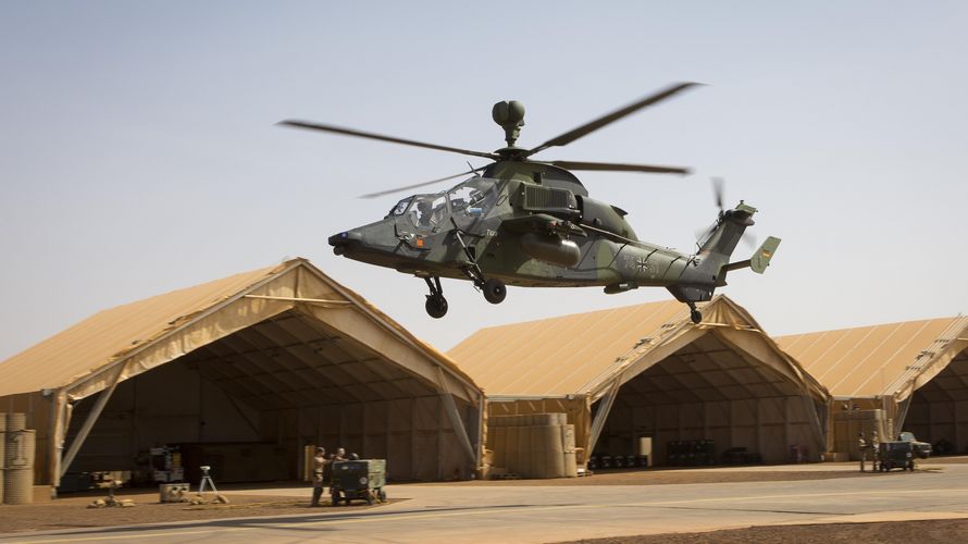
<path fill-rule="evenodd" d="M 446 355 L 303 259 L 104 310 L 0 363 L 0 411 L 29 413 L 53 485 L 152 441 L 272 442 L 287 467 L 342 444 L 397 479 L 468 477 L 482 407 Z"/>

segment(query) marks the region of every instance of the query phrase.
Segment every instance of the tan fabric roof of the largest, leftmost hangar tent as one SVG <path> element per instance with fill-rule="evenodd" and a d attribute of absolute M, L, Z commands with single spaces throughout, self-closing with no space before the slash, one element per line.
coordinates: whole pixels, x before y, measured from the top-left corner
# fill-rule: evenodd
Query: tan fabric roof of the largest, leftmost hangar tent
<path fill-rule="evenodd" d="M 369 323 L 375 322 L 378 330 L 399 341 L 395 344 L 395 349 L 409 346 L 420 357 L 444 367 L 463 386 L 476 390 L 473 381 L 447 356 L 414 337 L 361 296 L 323 274 L 308 260 L 293 259 L 275 267 L 235 274 L 100 311 L 0 362 L 0 396 L 40 390 L 79 391 L 79 384 L 90 382 L 111 367 L 129 362 L 128 359 L 142 353 L 157 351 L 163 344 L 170 343 L 163 346 L 164 354 L 152 356 L 150 362 L 124 367 L 121 371 L 124 374 L 122 379 L 129 378 L 245 326 L 251 326 L 255 322 L 293 309 L 300 305 L 302 299 L 299 297 L 306 296 L 325 297 L 327 301 L 332 301 L 327 305 L 318 300 L 320 304 L 312 305 L 313 309 L 307 310 L 307 314 L 312 316 L 315 311 L 321 316 L 326 312 L 345 316 L 339 312 L 350 308 L 350 311 L 362 314 Z M 229 307 L 241 302 L 246 306 Z M 220 313 L 226 314 L 224 319 L 221 319 Z M 351 322 L 345 317 L 334 317 L 328 325 L 338 326 L 339 323 Z M 353 333 L 348 331 L 347 335 L 352 336 Z M 179 335 L 189 337 L 175 339 Z M 392 343 L 381 344 L 378 347 L 386 353 Z M 438 379 L 433 381 L 436 383 Z M 104 386 L 104 383 L 85 385 L 87 388 L 76 396 L 87 396 Z M 468 396 L 467 391 L 461 393 L 462 396 Z"/>

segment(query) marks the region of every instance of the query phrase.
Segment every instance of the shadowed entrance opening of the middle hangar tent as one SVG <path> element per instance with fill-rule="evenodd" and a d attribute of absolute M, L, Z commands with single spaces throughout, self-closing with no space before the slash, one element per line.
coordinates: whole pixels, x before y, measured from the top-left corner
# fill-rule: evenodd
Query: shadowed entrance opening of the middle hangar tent
<path fill-rule="evenodd" d="M 642 438 L 651 438 L 657 466 L 818 459 L 823 398 L 782 372 L 775 354 L 761 360 L 728 338 L 707 332 L 624 381 L 594 449 L 599 467 L 603 456 L 643 453 Z"/>

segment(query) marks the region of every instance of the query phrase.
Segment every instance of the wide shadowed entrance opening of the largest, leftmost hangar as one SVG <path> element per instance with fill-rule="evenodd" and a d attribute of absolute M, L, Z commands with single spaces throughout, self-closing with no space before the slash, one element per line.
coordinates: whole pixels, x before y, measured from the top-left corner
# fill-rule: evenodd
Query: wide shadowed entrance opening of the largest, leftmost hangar
<path fill-rule="evenodd" d="M 150 449 L 177 446 L 185 481 L 296 480 L 306 447 L 387 459 L 394 480 L 469 478 L 461 434 L 476 407 L 298 310 L 243 329 L 120 383 L 67 473 L 131 471 L 151 483 Z M 67 443 L 97 396 L 78 403 Z M 464 429 L 448 415 L 456 408 Z M 463 434 L 467 441 L 467 434 Z"/>

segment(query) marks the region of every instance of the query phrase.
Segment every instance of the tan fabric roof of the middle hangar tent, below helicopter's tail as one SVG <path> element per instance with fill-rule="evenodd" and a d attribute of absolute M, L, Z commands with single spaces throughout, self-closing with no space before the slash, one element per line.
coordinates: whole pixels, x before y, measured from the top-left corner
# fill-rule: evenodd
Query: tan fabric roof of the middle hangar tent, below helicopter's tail
<path fill-rule="evenodd" d="M 741 331 L 757 337 L 756 348 L 742 343 L 744 347 L 769 354 L 802 388 L 826 398 L 826 391 L 728 297 L 715 297 L 703 313 L 704 323 L 693 325 L 688 308 L 668 300 L 487 327 L 448 355 L 489 395 L 597 397 L 617 376 L 628 381 L 698 335 Z"/>

